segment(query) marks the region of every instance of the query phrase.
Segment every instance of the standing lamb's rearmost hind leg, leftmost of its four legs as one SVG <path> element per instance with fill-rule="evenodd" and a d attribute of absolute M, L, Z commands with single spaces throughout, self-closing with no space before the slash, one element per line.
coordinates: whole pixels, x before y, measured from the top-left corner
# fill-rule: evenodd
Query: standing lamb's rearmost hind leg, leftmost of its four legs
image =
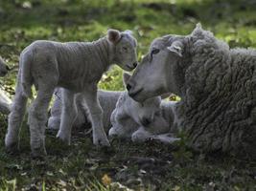
<path fill-rule="evenodd" d="M 23 117 L 26 112 L 28 98 L 22 94 L 22 87 L 20 83 L 21 73 L 18 73 L 18 80 L 15 89 L 15 96 L 12 103 L 11 114 L 8 118 L 8 131 L 5 138 L 6 149 L 8 152 L 15 152 L 18 149 L 19 129 Z"/>

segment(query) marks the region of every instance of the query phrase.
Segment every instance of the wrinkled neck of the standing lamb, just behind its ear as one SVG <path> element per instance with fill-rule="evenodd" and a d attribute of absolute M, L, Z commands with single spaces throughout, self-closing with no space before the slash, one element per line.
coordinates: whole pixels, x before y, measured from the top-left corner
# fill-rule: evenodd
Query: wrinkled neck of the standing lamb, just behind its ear
<path fill-rule="evenodd" d="M 96 56 L 100 59 L 100 63 L 97 64 L 101 64 L 101 68 L 106 71 L 113 62 L 113 45 L 108 42 L 106 37 L 103 37 L 92 42 L 92 46 Z"/>

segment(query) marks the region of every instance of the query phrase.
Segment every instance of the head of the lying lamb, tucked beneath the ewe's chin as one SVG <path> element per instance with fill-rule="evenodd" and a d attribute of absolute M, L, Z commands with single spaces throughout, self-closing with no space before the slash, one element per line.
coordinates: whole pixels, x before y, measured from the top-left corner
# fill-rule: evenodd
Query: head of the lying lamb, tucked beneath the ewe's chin
<path fill-rule="evenodd" d="M 127 84 L 130 77 L 129 74 L 125 73 L 123 75 L 124 83 Z M 155 117 L 160 114 L 160 103 L 161 97 L 154 96 L 144 102 L 137 102 L 133 100 L 128 93 L 124 97 L 124 109 L 126 110 L 129 117 L 131 117 L 136 123 L 147 127 L 154 121 Z"/>

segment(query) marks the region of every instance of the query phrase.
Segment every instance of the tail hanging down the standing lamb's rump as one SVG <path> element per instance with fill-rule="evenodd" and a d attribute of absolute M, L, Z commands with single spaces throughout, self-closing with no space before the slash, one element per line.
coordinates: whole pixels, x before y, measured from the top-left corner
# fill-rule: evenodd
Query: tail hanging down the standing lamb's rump
<path fill-rule="evenodd" d="M 20 83 L 22 87 L 22 94 L 28 98 L 33 98 L 32 85 L 33 77 L 31 74 L 32 69 L 32 56 L 29 53 L 24 53 L 20 56 Z"/>

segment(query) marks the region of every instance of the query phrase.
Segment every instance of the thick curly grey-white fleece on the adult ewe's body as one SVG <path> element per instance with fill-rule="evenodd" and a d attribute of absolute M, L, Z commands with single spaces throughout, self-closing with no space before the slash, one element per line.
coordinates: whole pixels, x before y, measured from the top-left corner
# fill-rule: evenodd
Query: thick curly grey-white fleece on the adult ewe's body
<path fill-rule="evenodd" d="M 256 158 L 256 51 L 229 49 L 195 30 L 184 55 L 185 83 L 175 115 L 198 151 Z"/>

